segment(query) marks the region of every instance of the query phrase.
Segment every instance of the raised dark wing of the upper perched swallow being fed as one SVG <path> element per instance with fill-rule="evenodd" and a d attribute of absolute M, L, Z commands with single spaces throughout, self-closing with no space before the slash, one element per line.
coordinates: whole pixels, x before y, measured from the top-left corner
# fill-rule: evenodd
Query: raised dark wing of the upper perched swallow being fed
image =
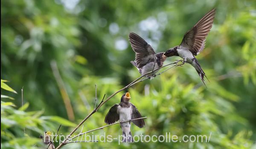
<path fill-rule="evenodd" d="M 145 66 L 148 62 L 154 62 L 156 53 L 154 52 L 154 49 L 142 39 L 142 37 L 135 33 L 130 33 L 129 41 L 132 49 L 136 53 L 135 60 L 138 68 Z"/>

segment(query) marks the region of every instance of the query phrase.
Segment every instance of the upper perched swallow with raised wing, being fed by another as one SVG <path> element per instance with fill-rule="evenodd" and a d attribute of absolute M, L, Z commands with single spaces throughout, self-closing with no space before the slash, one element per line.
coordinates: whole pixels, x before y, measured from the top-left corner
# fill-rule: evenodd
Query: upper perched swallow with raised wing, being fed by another
<path fill-rule="evenodd" d="M 156 53 L 154 49 L 139 35 L 135 33 L 129 34 L 129 41 L 131 47 L 136 53 L 135 60 L 131 63 L 139 70 L 141 75 L 151 72 L 154 69 L 163 66 L 163 62 L 166 60 L 164 52 Z M 155 71 L 153 74 L 148 74 L 146 77 L 155 77 Z"/>

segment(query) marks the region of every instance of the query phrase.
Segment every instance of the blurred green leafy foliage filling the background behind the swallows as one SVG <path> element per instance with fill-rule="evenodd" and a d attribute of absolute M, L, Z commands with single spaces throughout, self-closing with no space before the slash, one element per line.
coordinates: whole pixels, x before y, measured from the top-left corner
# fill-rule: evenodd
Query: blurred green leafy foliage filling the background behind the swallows
<path fill-rule="evenodd" d="M 148 117 L 143 129 L 132 125 L 134 135 L 212 132 L 209 143 L 70 143 L 63 149 L 255 148 L 254 0 L 2 0 L 1 148 L 42 146 L 39 135 L 44 130 L 55 132 L 60 123 L 64 125 L 60 132 L 69 134 L 74 123 L 93 110 L 94 84 L 98 85 L 100 99 L 139 77 L 130 63 L 135 55 L 128 42 L 129 32 L 141 35 L 157 52 L 166 51 L 178 45 L 183 34 L 214 7 L 214 25 L 206 48 L 197 56 L 210 80 L 207 89 L 189 65 L 170 69 L 129 89 L 131 102 Z M 70 97 L 74 122 L 66 120 L 52 60 Z M 104 126 L 105 115 L 119 103 L 122 94 L 90 117 L 84 131 Z M 94 135 L 104 132 L 121 134 L 115 125 Z"/>

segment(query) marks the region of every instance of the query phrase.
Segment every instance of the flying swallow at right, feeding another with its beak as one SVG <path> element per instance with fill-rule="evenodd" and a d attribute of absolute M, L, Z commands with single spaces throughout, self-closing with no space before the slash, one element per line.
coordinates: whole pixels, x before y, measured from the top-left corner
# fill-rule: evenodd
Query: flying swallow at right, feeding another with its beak
<path fill-rule="evenodd" d="M 184 58 L 184 62 L 191 64 L 195 67 L 199 77 L 204 83 L 204 76 L 206 77 L 203 69 L 201 68 L 195 55 L 199 54 L 205 46 L 205 40 L 212 28 L 212 23 L 215 17 L 215 9 L 212 9 L 204 15 L 198 23 L 195 24 L 183 37 L 179 46 L 175 46 L 167 50 L 163 55 L 167 57 L 179 56 Z M 207 78 L 207 77 L 206 77 Z M 207 79 L 208 80 L 208 79 Z M 205 85 L 205 83 L 204 83 Z"/>

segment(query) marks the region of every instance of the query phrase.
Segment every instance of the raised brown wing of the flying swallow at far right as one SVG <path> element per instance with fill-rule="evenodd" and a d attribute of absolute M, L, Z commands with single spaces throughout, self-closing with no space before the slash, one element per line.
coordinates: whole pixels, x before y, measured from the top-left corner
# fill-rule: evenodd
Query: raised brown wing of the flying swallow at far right
<path fill-rule="evenodd" d="M 204 43 L 215 16 L 215 9 L 212 9 L 204 17 L 195 24 L 183 37 L 180 46 L 183 49 L 188 49 L 192 54 L 197 55 L 204 49 Z"/>

